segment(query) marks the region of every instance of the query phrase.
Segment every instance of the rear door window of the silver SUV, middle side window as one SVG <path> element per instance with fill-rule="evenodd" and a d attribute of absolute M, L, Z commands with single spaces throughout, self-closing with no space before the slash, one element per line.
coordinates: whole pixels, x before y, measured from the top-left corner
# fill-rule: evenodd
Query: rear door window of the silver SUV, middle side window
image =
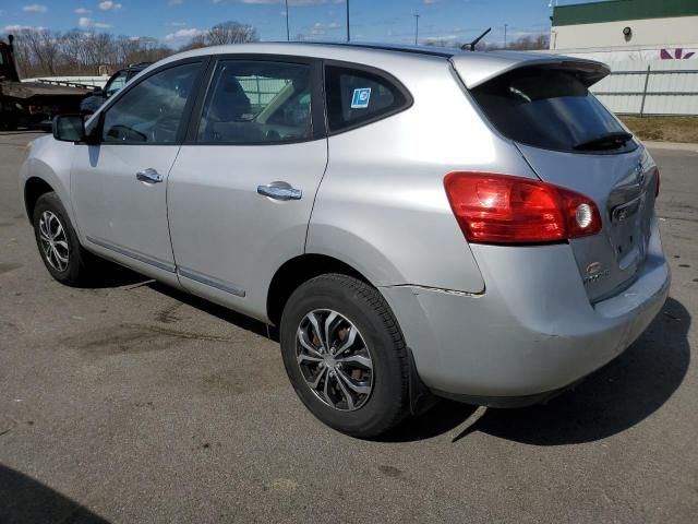
<path fill-rule="evenodd" d="M 197 142 L 264 144 L 313 134 L 311 69 L 298 63 L 227 60 L 213 76 Z"/>

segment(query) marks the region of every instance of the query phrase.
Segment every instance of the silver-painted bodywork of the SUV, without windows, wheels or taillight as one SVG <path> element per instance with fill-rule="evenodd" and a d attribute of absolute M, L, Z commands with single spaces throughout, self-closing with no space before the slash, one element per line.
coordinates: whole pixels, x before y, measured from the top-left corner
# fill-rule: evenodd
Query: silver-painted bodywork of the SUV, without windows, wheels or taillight
<path fill-rule="evenodd" d="M 641 145 L 587 155 L 514 144 L 468 93 L 514 68 L 578 68 L 591 82 L 607 72 L 604 66 L 454 52 L 250 44 L 177 55 L 141 75 L 194 56 L 310 56 L 385 70 L 414 103 L 375 123 L 298 144 L 87 146 L 46 136 L 34 141 L 22 167 L 22 194 L 29 178 L 45 180 L 86 249 L 264 321 L 279 267 L 303 254 L 332 257 L 383 294 L 428 385 L 482 396 L 561 388 L 623 352 L 667 296 L 653 212 L 655 166 Z M 148 169 L 161 183 L 142 180 Z M 469 245 L 443 187 L 444 176 L 458 170 L 568 187 L 597 203 L 603 230 L 553 246 Z M 286 191 L 260 194 L 279 182 Z M 634 199 L 637 210 L 623 207 Z M 618 253 L 633 230 L 639 237 Z M 602 269 L 587 275 L 591 264 Z"/>

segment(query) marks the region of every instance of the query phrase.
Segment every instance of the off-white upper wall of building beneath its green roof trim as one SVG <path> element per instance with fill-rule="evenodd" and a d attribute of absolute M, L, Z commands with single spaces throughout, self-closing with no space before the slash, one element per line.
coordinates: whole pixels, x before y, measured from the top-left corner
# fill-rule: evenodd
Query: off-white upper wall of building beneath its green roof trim
<path fill-rule="evenodd" d="M 629 40 L 623 35 L 624 27 L 633 29 Z M 555 50 L 682 47 L 697 43 L 698 16 L 558 25 L 552 27 L 550 37 L 550 48 Z"/>

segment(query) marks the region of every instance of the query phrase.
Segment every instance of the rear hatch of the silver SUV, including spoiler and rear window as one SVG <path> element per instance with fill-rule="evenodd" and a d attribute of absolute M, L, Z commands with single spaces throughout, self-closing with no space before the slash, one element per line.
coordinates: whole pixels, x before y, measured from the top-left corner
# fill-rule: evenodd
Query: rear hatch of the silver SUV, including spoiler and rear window
<path fill-rule="evenodd" d="M 627 287 L 645 262 L 659 172 L 645 147 L 589 93 L 607 74 L 587 60 L 533 56 L 495 60 L 461 73 L 492 126 L 512 140 L 545 182 L 591 198 L 602 216 L 598 235 L 569 241 L 590 300 Z M 510 174 L 517 175 L 517 174 Z"/>

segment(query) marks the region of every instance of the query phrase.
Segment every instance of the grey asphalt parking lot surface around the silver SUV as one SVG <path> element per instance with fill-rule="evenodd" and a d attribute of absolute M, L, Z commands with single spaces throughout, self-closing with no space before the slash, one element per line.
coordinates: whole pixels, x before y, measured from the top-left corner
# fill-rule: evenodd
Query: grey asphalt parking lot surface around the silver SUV
<path fill-rule="evenodd" d="M 625 354 L 370 442 L 301 405 L 264 325 L 127 271 L 52 281 L 19 205 L 35 136 L 0 133 L 1 523 L 696 522 L 698 153 L 652 150 L 672 294 Z"/>

